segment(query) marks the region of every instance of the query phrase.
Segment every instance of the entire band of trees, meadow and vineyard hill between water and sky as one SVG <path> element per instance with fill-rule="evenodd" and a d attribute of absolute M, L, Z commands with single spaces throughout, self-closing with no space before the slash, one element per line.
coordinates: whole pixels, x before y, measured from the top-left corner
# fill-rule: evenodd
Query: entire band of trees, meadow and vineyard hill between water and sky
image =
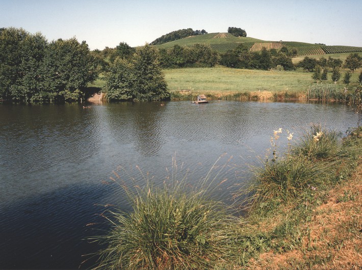
<path fill-rule="evenodd" d="M 362 47 L 267 42 L 246 37 L 237 27 L 228 33 L 190 28 L 167 35 L 161 45 L 136 49 L 121 42 L 90 51 L 75 38 L 48 42 L 40 33 L 0 28 L 0 101 L 81 103 L 99 92 L 108 101 L 194 100 L 199 94 L 211 100 L 323 96 L 312 98 L 313 88 L 343 92 L 324 95 L 327 100 L 349 100 L 362 82 Z"/>

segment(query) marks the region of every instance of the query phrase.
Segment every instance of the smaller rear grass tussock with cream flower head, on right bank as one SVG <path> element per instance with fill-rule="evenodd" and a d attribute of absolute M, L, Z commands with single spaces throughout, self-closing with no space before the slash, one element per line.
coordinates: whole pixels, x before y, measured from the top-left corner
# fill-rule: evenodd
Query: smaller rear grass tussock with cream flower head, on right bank
<path fill-rule="evenodd" d="M 312 125 L 299 142 L 292 146 L 293 155 L 302 155 L 309 160 L 336 158 L 340 151 L 339 138 L 335 131 L 328 131 L 320 125 Z"/>

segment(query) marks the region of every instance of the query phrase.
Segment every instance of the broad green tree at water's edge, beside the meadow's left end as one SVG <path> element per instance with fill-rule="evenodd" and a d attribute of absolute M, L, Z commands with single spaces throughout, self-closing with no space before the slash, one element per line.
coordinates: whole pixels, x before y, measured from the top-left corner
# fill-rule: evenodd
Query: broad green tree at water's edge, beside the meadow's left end
<path fill-rule="evenodd" d="M 158 50 L 146 44 L 136 49 L 132 59 L 117 58 L 106 75 L 103 91 L 109 101 L 170 99 Z"/>

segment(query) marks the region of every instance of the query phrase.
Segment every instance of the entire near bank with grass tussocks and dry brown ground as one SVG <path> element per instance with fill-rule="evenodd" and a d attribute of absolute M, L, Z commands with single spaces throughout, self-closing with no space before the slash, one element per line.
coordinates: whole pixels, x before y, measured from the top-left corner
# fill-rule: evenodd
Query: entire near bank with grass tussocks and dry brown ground
<path fill-rule="evenodd" d="M 290 139 L 283 154 L 280 136 Z M 360 267 L 362 128 L 341 139 L 313 126 L 296 142 L 279 129 L 271 143 L 235 194 L 248 194 L 246 217 L 208 198 L 217 177 L 196 187 L 123 187 L 133 211 L 107 215 L 112 231 L 95 237 L 106 245 L 99 268 Z"/>

